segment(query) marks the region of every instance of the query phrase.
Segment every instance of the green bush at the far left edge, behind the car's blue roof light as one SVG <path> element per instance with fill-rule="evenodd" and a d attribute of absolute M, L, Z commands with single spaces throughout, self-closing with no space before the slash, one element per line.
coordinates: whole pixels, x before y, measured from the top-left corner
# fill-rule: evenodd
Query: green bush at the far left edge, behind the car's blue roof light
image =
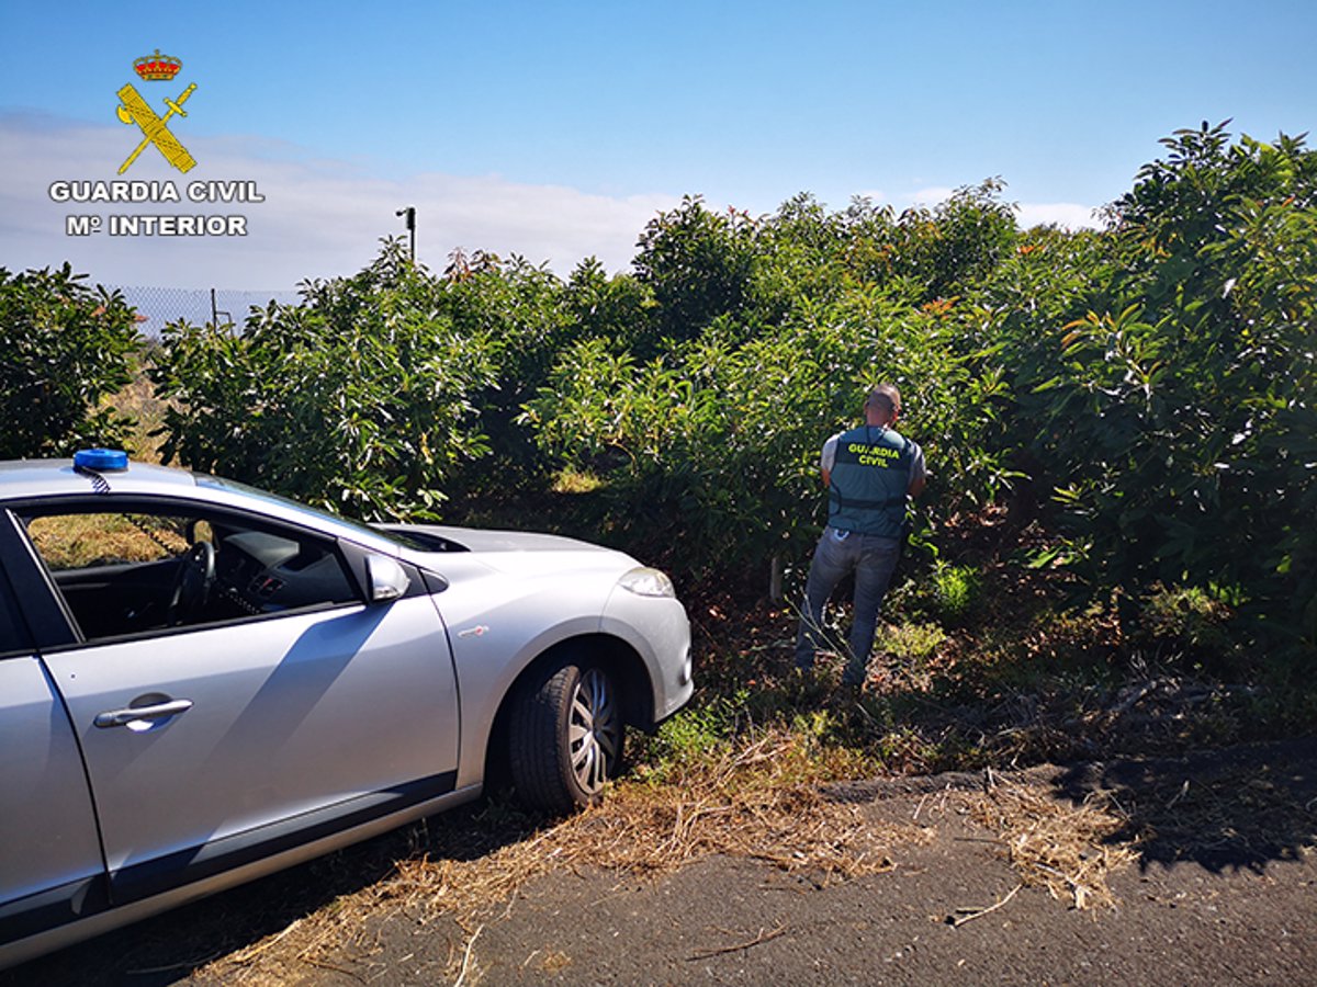
<path fill-rule="evenodd" d="M 133 309 L 66 263 L 0 268 L 0 459 L 122 446 L 132 421 L 100 407 L 132 380 L 141 350 Z"/>

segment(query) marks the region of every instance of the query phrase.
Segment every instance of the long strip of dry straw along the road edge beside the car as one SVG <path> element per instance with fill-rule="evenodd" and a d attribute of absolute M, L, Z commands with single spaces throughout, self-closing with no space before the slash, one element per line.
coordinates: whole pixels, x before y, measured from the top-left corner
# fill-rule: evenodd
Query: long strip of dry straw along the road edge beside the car
<path fill-rule="evenodd" d="M 399 913 L 421 925 L 453 920 L 466 930 L 469 945 L 529 880 L 551 871 L 657 875 L 726 854 L 810 871 L 826 882 L 892 870 L 893 846 L 927 838 L 915 825 L 865 821 L 859 807 L 828 800 L 817 783 L 793 778 L 799 742 L 790 733 L 768 732 L 661 783 L 624 782 L 603 804 L 491 853 L 399 861 L 385 880 L 198 975 L 225 983 L 298 983 L 324 967 L 335 950 L 374 953 L 371 924 Z M 469 950 L 454 948 L 445 976 L 461 976 L 469 959 Z"/>

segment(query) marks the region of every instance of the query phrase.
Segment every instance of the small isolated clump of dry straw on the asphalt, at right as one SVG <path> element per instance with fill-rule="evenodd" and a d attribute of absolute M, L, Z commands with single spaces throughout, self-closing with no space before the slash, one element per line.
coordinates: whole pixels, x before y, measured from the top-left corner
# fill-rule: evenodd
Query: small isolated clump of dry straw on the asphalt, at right
<path fill-rule="evenodd" d="M 992 776 L 992 775 L 990 775 Z M 998 834 L 1021 882 L 1044 887 L 1075 908 L 1113 907 L 1108 875 L 1133 862 L 1137 850 L 1115 838 L 1129 820 L 1105 792 L 1080 805 L 1058 801 L 1036 787 L 994 778 L 973 804 L 973 816 Z"/>

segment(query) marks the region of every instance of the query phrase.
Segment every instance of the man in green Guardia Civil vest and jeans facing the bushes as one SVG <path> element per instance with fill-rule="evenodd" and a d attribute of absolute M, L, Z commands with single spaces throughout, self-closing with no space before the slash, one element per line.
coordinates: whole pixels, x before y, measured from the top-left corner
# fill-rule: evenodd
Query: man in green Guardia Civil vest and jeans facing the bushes
<path fill-rule="evenodd" d="M 901 555 L 906 495 L 918 496 L 927 482 L 923 450 L 893 429 L 900 415 L 901 392 L 878 384 L 864 401 L 864 425 L 823 445 L 828 521 L 805 584 L 795 667 L 814 667 L 814 653 L 823 645 L 823 608 L 836 584 L 855 572 L 851 655 L 842 678 L 855 688 L 864 684 L 878 607 Z"/>

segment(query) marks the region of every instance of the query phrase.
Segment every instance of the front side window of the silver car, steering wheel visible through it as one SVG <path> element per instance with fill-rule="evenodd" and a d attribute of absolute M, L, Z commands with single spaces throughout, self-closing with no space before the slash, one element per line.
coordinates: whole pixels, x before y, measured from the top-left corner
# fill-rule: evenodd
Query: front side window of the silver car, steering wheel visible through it
<path fill-rule="evenodd" d="M 257 519 L 71 511 L 24 521 L 88 641 L 360 601 L 333 542 Z"/>

